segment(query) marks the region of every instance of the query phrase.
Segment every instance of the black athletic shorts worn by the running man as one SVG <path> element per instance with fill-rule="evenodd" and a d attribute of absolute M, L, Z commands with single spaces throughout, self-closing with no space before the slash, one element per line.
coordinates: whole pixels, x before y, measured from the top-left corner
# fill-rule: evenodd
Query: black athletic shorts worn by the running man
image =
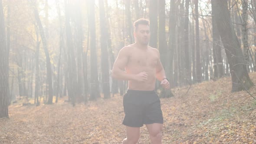
<path fill-rule="evenodd" d="M 123 104 L 124 125 L 142 127 L 143 124 L 163 124 L 160 99 L 155 91 L 128 90 Z"/>

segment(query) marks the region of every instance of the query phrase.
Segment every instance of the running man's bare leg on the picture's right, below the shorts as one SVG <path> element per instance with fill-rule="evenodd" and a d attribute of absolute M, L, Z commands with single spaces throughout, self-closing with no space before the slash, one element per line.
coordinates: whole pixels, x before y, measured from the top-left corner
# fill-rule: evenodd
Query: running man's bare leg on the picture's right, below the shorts
<path fill-rule="evenodd" d="M 152 144 L 162 144 L 163 124 L 146 124 Z"/>

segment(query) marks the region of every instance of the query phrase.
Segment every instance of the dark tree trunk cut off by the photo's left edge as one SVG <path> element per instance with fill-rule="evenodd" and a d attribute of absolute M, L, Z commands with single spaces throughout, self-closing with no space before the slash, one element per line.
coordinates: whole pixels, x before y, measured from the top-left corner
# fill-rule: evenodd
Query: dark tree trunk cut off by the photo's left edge
<path fill-rule="evenodd" d="M 8 118 L 9 56 L 6 46 L 3 1 L 0 0 L 0 118 Z"/>

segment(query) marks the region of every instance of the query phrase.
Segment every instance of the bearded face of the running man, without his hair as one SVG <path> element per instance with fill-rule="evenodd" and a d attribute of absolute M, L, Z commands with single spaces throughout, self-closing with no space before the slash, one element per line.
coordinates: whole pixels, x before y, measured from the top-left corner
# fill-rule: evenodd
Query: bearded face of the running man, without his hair
<path fill-rule="evenodd" d="M 139 24 L 134 32 L 136 42 L 141 45 L 148 45 L 150 39 L 150 29 L 148 25 Z"/>

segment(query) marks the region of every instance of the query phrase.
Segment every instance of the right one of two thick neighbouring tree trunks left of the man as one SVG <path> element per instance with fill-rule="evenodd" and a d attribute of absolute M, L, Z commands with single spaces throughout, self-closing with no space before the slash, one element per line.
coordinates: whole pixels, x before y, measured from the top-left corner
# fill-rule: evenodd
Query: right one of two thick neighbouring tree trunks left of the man
<path fill-rule="evenodd" d="M 100 27 L 101 27 L 101 63 L 102 63 L 102 88 L 104 98 L 110 98 L 109 65 L 108 65 L 108 32 L 105 20 L 104 0 L 99 0 Z"/>

